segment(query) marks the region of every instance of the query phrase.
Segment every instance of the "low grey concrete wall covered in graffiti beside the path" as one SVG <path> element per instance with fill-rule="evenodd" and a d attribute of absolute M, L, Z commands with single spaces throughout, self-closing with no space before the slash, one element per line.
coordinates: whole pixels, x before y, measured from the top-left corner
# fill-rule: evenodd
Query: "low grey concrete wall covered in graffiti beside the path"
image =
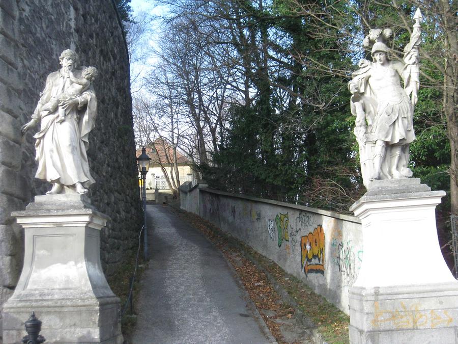
<path fill-rule="evenodd" d="M 181 208 L 242 240 L 349 314 L 363 258 L 359 219 L 305 206 L 180 189 Z"/>

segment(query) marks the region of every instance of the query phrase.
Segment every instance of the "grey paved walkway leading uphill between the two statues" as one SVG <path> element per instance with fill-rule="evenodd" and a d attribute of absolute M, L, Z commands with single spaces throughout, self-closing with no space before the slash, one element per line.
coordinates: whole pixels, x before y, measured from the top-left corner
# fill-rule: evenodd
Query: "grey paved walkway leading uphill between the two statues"
<path fill-rule="evenodd" d="M 274 342 L 223 255 L 163 205 L 147 205 L 150 263 L 133 343 Z"/>

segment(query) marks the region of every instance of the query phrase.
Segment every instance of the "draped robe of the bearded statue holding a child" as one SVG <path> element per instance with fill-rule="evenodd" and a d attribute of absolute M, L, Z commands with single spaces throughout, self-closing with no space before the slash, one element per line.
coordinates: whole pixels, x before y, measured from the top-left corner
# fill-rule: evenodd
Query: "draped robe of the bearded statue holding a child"
<path fill-rule="evenodd" d="M 81 77 L 80 69 L 73 70 L 73 73 L 76 77 Z M 41 107 L 51 97 L 65 92 L 71 83 L 70 78 L 65 77 L 62 70 L 49 74 L 32 116 L 41 122 L 41 129 L 34 136 L 37 139 L 35 147 L 38 162 L 35 177 L 66 186 L 81 182 L 84 187 L 88 187 L 95 182 L 89 172 L 86 153 L 88 136 L 97 115 L 94 90 L 90 87 L 84 91 L 80 96 L 81 108 L 78 105 L 67 108 L 65 120 L 61 123 L 56 123 L 59 118 L 58 109 L 50 114 L 41 114 Z"/>

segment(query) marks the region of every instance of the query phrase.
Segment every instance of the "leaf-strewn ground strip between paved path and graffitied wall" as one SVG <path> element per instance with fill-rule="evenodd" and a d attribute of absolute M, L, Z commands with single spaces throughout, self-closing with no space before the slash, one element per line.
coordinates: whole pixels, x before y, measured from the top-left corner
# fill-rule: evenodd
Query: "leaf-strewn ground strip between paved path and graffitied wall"
<path fill-rule="evenodd" d="M 344 344 L 349 342 L 349 316 L 338 310 L 321 295 L 314 293 L 303 281 L 286 273 L 272 260 L 201 217 L 177 208 L 173 211 L 201 231 L 224 253 L 240 276 L 264 322 L 279 343 L 296 344 L 318 341 Z M 253 259 L 256 265 L 247 257 Z M 296 309 L 282 302 L 263 271 L 266 271 L 271 279 L 273 278 L 276 286 L 281 286 L 281 289 L 288 293 L 294 300 Z M 303 319 L 302 315 L 307 318 L 305 324 L 303 320 L 297 321 L 297 319 Z M 307 331 L 308 334 L 305 333 Z"/>

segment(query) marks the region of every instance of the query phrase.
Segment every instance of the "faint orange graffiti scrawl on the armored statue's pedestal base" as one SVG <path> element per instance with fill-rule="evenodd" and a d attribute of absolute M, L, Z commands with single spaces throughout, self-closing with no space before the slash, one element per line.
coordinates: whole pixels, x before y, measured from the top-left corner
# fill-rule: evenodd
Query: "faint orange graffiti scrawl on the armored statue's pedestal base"
<path fill-rule="evenodd" d="M 395 309 L 381 309 L 378 301 L 374 302 L 374 319 L 371 324 L 375 328 L 387 325 L 395 329 L 418 329 L 449 327 L 453 322 L 447 310 L 421 310 L 420 304 L 407 307 L 404 302 Z"/>

